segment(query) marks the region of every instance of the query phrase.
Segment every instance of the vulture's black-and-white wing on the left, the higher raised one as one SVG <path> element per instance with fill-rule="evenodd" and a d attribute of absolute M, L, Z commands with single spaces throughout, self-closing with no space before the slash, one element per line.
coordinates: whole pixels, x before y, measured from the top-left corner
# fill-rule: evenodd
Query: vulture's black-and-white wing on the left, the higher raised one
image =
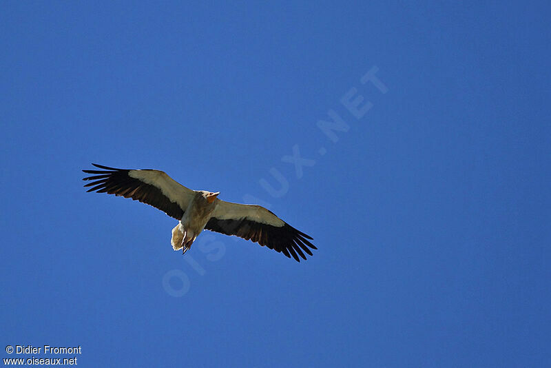
<path fill-rule="evenodd" d="M 152 205 L 177 220 L 182 218 L 195 194 L 159 170 L 124 170 L 95 163 L 92 165 L 103 170 L 82 170 L 86 174 L 94 174 L 83 178 L 84 181 L 92 181 L 84 185 L 92 187 L 87 192 L 132 198 Z"/>

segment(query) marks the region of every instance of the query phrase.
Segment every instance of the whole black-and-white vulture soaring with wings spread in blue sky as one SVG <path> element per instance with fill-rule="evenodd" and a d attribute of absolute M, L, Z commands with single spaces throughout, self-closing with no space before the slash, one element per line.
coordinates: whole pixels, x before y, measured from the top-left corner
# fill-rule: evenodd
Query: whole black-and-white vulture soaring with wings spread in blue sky
<path fill-rule="evenodd" d="M 91 181 L 87 192 L 115 194 L 152 205 L 176 218 L 171 245 L 185 254 L 203 229 L 236 235 L 280 252 L 288 258 L 304 254 L 312 256 L 318 249 L 310 236 L 298 231 L 273 212 L 259 205 L 242 205 L 222 201 L 220 192 L 190 190 L 174 181 L 165 172 L 152 169 L 125 170 L 92 163 L 101 170 L 82 170 L 92 174 L 83 178 Z"/>

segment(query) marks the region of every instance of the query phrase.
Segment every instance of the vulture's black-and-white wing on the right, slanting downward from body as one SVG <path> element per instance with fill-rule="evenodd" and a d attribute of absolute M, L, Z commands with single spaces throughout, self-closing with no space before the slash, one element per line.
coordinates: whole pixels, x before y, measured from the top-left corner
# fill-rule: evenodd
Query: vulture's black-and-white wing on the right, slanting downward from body
<path fill-rule="evenodd" d="M 312 240 L 310 236 L 259 205 L 241 205 L 218 200 L 205 229 L 266 245 L 289 258 L 293 256 L 298 262 L 298 255 L 306 259 L 304 253 L 312 255 L 309 248 L 318 249 L 308 241 Z"/>

